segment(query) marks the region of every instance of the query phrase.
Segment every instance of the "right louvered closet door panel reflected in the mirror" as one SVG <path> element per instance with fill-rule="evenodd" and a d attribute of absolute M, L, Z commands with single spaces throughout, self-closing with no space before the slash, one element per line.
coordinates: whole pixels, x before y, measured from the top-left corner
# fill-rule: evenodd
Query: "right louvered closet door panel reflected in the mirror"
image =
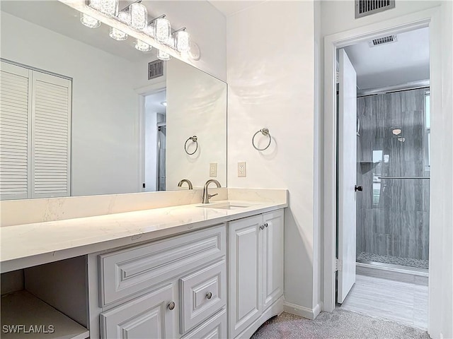
<path fill-rule="evenodd" d="M 33 72 L 32 198 L 69 196 L 71 81 Z"/>

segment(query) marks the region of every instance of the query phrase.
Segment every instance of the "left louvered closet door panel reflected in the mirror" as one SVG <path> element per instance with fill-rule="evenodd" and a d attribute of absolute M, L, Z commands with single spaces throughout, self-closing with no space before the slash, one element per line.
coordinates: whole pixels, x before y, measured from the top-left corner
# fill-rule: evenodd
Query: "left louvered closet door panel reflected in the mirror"
<path fill-rule="evenodd" d="M 30 194 L 30 74 L 23 67 L 1 62 L 0 76 L 0 199 Z"/>

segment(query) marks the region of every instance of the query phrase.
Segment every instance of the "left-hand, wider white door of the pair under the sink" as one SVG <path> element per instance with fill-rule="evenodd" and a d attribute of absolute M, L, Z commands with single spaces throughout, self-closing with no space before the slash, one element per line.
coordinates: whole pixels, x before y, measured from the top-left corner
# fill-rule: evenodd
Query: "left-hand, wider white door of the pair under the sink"
<path fill-rule="evenodd" d="M 262 313 L 262 215 L 229 222 L 229 335 L 239 333 Z"/>

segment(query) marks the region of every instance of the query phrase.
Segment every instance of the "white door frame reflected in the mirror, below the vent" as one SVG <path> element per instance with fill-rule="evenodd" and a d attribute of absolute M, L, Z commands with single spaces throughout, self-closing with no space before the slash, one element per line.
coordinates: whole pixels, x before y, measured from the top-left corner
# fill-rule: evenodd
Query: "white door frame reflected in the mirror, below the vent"
<path fill-rule="evenodd" d="M 159 81 L 155 81 L 150 85 L 136 88 L 135 93 L 138 96 L 138 117 L 137 117 L 137 159 L 138 159 L 138 179 L 139 182 L 137 183 L 137 191 L 144 192 L 143 183 L 144 183 L 144 161 L 145 161 L 145 149 L 144 149 L 144 138 L 145 138 L 145 131 L 144 131 L 144 114 L 145 114 L 145 98 L 147 95 L 151 95 L 154 93 L 161 92 L 166 90 L 166 77 L 164 79 L 159 79 Z"/>

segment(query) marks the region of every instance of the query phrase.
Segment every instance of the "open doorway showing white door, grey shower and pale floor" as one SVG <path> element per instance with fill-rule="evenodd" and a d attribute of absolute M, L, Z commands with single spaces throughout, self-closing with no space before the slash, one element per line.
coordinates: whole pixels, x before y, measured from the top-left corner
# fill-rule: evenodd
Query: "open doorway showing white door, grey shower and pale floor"
<path fill-rule="evenodd" d="M 429 29 L 337 52 L 337 302 L 427 328 Z"/>

